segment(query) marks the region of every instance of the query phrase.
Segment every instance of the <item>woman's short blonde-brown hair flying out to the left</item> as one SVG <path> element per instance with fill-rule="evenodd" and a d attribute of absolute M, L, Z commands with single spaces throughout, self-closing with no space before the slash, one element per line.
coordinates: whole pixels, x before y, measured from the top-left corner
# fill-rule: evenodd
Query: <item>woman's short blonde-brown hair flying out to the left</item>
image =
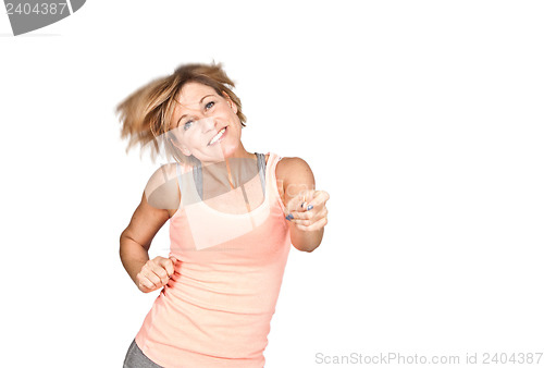
<path fill-rule="evenodd" d="M 170 139 L 164 139 L 171 130 L 170 123 L 177 103 L 175 99 L 188 82 L 210 86 L 219 96 L 226 94 L 238 108 L 237 115 L 242 126 L 246 126 L 242 102 L 231 89 L 234 88 L 234 83 L 223 71 L 221 63 L 185 64 L 171 75 L 153 79 L 137 89 L 116 107 L 115 112 L 122 124 L 121 138 L 128 138 L 127 152 L 136 144 L 139 144 L 141 149 L 150 146 L 151 159 L 154 161 L 163 144 L 168 158 L 173 157 L 178 162 L 196 160 L 184 156 Z"/>

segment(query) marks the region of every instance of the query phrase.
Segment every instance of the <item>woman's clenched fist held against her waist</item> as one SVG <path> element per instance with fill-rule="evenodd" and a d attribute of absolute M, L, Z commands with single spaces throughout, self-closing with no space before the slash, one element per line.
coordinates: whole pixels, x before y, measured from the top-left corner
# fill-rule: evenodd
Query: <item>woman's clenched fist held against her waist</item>
<path fill-rule="evenodd" d="M 150 293 L 168 284 L 174 274 L 176 261 L 177 259 L 174 257 L 164 258 L 161 256 L 148 260 L 136 275 L 138 289 L 143 293 Z"/>

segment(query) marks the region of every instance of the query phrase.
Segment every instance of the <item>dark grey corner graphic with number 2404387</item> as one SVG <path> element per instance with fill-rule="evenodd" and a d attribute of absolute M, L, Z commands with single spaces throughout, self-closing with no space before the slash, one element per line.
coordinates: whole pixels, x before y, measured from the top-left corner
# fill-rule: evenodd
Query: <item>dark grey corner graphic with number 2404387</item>
<path fill-rule="evenodd" d="M 85 0 L 4 0 L 14 36 L 46 27 L 78 11 Z"/>

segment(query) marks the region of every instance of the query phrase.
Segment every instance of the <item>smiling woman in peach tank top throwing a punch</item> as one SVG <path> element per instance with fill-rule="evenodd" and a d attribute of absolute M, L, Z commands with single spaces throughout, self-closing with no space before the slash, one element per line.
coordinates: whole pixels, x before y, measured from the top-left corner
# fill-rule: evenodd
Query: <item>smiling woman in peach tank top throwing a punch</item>
<path fill-rule="evenodd" d="M 231 87 L 221 65 L 182 65 L 118 107 L 128 147 L 163 147 L 175 161 L 153 173 L 121 234 L 138 289 L 162 287 L 124 367 L 263 367 L 290 245 L 321 243 L 329 194 L 302 159 L 244 148 Z M 168 220 L 169 258 L 149 259 Z"/>

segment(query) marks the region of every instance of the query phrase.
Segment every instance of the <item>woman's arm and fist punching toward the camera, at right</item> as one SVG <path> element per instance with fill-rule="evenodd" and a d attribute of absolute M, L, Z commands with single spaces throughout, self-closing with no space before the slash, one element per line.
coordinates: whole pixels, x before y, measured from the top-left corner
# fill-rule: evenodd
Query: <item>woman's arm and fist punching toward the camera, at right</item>
<path fill-rule="evenodd" d="M 316 180 L 308 163 L 298 158 L 283 158 L 276 167 L 282 182 L 285 221 L 289 221 L 290 242 L 298 250 L 312 252 L 323 238 L 327 222 L 329 193 L 316 191 Z"/>

